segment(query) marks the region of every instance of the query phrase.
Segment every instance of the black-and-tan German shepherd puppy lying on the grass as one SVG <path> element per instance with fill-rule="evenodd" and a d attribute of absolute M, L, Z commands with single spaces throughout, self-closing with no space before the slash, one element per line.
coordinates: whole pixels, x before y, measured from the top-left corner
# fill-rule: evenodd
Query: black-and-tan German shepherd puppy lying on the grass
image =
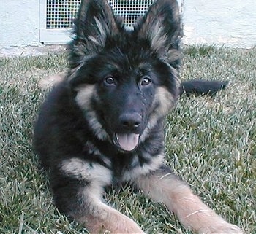
<path fill-rule="evenodd" d="M 102 202 L 105 187 L 120 182 L 165 203 L 197 233 L 242 233 L 164 163 L 165 117 L 182 93 L 180 37 L 175 0 L 156 1 L 133 30 L 106 0 L 80 4 L 69 72 L 42 104 L 34 149 L 56 207 L 91 233 L 144 233 Z"/>

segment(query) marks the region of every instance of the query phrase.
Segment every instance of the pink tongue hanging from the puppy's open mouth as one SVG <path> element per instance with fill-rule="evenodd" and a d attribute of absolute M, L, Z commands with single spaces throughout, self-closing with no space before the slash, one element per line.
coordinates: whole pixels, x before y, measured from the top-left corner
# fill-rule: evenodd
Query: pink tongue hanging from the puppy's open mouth
<path fill-rule="evenodd" d="M 117 134 L 116 138 L 121 149 L 132 151 L 138 145 L 139 135 L 135 133 Z"/>

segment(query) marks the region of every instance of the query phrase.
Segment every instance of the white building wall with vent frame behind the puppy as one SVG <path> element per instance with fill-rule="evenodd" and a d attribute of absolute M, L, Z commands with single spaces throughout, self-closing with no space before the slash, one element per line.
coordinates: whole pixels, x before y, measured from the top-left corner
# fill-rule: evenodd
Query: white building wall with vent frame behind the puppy
<path fill-rule="evenodd" d="M 148 2 L 152 1 L 154 0 Z M 69 27 L 61 27 L 68 26 L 67 21 L 75 14 L 79 2 L 80 0 L 0 0 L 0 50 L 6 50 L 8 47 L 68 42 Z M 127 0 L 127 2 L 132 1 Z M 136 4 L 138 2 L 140 1 L 138 0 Z M 256 45 L 255 0 L 179 0 L 179 2 L 182 3 L 184 19 L 184 44 L 215 44 L 246 48 Z M 110 0 L 110 4 L 118 11 L 118 0 Z M 57 9 L 59 12 L 50 12 L 52 10 L 49 9 L 50 7 L 55 7 L 53 10 Z M 64 25 L 50 25 L 52 21 L 49 17 L 58 20 L 63 13 L 61 11 L 66 14 Z"/>

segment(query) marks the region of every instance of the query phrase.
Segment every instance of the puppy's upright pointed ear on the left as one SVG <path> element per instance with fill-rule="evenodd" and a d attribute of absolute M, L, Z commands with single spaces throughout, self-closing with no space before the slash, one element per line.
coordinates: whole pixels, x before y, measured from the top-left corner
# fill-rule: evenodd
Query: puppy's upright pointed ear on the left
<path fill-rule="evenodd" d="M 75 38 L 70 44 L 71 67 L 105 47 L 108 36 L 118 34 L 122 22 L 113 15 L 107 0 L 82 0 L 75 20 Z"/>

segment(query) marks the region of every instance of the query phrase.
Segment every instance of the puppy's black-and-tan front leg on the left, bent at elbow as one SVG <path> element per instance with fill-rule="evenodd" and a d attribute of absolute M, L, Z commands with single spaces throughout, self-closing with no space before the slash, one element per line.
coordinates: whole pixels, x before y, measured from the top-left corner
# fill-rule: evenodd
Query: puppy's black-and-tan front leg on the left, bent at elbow
<path fill-rule="evenodd" d="M 90 233 L 143 233 L 138 225 L 102 202 L 103 187 L 111 181 L 111 171 L 79 157 L 63 160 L 50 170 L 56 207 Z"/>

